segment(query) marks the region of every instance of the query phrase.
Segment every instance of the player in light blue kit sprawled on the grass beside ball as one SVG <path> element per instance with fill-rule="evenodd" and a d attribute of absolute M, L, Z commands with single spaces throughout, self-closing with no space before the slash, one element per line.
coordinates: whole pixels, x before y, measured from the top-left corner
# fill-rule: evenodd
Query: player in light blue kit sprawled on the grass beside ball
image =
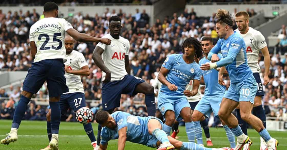
<path fill-rule="evenodd" d="M 158 150 L 229 150 L 228 147 L 204 148 L 193 142 L 178 141 L 166 135 L 162 121 L 156 117 L 133 116 L 123 111 L 110 115 L 107 111 L 99 111 L 96 121 L 103 127 L 100 150 L 106 150 L 111 139 L 119 139 L 118 150 L 125 149 L 126 141 L 158 147 Z"/>

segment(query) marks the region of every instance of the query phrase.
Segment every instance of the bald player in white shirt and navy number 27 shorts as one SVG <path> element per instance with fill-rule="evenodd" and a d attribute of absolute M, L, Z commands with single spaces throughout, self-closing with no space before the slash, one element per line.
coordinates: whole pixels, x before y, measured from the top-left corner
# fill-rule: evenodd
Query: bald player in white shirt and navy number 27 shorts
<path fill-rule="evenodd" d="M 86 107 L 86 99 L 84 95 L 84 87 L 81 82 L 81 75 L 90 75 L 88 63 L 84 55 L 78 51 L 73 50 L 75 40 L 71 36 L 65 37 L 66 59 L 65 62 L 65 78 L 66 85 L 69 88 L 69 92 L 63 93 L 60 97 L 61 114 L 65 114 L 70 108 L 75 112 Z M 47 133 L 49 141 L 51 141 L 51 109 L 47 113 Z M 70 116 L 72 117 L 72 116 Z M 91 140 L 92 146 L 96 147 L 96 138 L 92 128 L 92 124 L 88 123 L 84 125 L 84 129 Z M 50 150 L 51 147 L 47 146 L 43 150 Z"/>

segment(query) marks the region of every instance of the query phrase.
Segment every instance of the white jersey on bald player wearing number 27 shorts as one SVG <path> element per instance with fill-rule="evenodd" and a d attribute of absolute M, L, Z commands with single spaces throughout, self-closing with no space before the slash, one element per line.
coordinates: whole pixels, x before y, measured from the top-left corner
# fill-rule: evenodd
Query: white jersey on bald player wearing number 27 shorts
<path fill-rule="evenodd" d="M 88 63 L 84 55 L 78 51 L 73 50 L 70 54 L 66 55 L 67 61 L 65 62 L 66 66 L 70 66 L 72 70 L 81 70 L 82 67 L 88 66 Z M 71 73 L 65 73 L 66 85 L 69 88 L 67 93 L 84 93 L 84 85 L 81 81 L 80 75 L 74 75 Z M 64 94 L 67 94 L 64 93 Z"/>

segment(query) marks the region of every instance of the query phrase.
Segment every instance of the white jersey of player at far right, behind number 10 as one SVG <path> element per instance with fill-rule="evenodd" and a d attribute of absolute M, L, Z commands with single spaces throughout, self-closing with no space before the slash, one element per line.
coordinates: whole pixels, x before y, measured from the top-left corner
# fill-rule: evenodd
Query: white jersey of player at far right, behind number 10
<path fill-rule="evenodd" d="M 239 33 L 246 44 L 246 55 L 248 65 L 253 73 L 260 73 L 261 69 L 258 64 L 259 50 L 267 46 L 265 37 L 260 31 L 257 31 L 251 27 L 246 34 L 241 34 L 238 29 L 235 30 Z"/>

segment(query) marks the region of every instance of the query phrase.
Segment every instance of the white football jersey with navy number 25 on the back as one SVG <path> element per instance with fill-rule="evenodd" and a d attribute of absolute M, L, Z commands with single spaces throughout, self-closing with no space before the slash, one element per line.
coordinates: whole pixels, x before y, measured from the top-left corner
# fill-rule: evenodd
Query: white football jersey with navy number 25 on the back
<path fill-rule="evenodd" d="M 34 23 L 29 40 L 35 41 L 37 53 L 34 62 L 44 59 L 66 59 L 65 33 L 72 25 L 62 18 L 48 17 Z"/>

